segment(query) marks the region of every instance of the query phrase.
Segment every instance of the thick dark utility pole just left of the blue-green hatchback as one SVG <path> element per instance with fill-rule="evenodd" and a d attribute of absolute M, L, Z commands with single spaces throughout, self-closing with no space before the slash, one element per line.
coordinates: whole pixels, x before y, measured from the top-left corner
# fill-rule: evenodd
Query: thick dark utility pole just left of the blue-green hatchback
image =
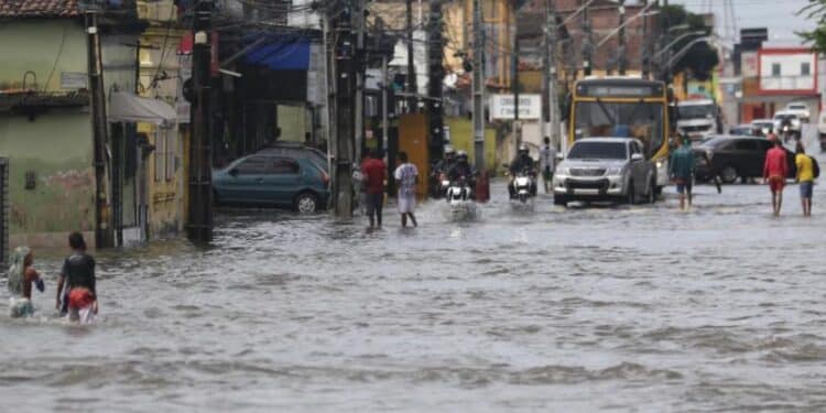
<path fill-rule="evenodd" d="M 213 1 L 203 0 L 193 18 L 192 73 L 195 101 L 192 105 L 189 144 L 189 205 L 187 238 L 193 242 L 213 239 L 213 156 L 210 154 L 210 96 Z"/>

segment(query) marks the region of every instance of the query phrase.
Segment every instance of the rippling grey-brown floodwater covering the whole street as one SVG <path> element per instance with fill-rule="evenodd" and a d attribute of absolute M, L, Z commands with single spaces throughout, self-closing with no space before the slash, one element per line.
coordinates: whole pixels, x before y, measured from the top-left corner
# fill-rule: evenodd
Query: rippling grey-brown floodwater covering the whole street
<path fill-rule="evenodd" d="M 822 159 L 822 164 L 824 161 Z M 0 318 L 14 411 L 826 410 L 826 189 L 771 217 L 760 185 L 676 210 L 514 213 L 421 227 L 224 211 L 213 248 L 98 256 L 99 323 Z M 36 252 L 35 252 L 36 253 Z M 4 284 L 4 281 L 3 281 Z M 0 286 L 3 313 L 8 301 Z"/>

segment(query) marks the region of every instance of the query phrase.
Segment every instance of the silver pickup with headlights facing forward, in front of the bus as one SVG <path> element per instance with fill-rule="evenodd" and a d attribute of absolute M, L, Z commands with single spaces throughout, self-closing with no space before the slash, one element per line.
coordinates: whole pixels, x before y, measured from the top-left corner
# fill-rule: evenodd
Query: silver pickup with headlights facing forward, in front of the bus
<path fill-rule="evenodd" d="M 656 199 L 656 166 L 642 142 L 631 138 L 585 138 L 574 142 L 554 173 L 554 204 L 570 200 Z"/>

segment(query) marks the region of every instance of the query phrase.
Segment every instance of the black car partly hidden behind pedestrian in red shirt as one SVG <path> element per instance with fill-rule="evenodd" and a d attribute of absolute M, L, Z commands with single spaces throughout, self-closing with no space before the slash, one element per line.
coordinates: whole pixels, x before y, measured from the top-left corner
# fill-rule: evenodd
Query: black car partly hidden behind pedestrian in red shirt
<path fill-rule="evenodd" d="M 731 184 L 741 178 L 743 182 L 752 177 L 763 176 L 765 152 L 772 148 L 772 142 L 764 138 L 747 137 L 715 137 L 694 149 L 697 180 L 708 181 L 719 175 L 724 183 Z M 794 152 L 783 148 L 789 162 L 789 178 L 794 178 L 796 167 Z"/>

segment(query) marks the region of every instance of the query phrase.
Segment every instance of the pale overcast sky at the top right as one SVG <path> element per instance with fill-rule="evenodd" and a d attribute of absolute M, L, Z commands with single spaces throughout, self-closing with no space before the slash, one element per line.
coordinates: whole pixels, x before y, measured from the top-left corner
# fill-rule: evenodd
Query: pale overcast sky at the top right
<path fill-rule="evenodd" d="M 724 10 L 726 0 L 671 0 L 671 4 L 683 4 L 692 12 L 714 11 L 717 15 L 717 31 L 725 36 Z M 737 31 L 745 28 L 768 28 L 769 44 L 775 46 L 800 45 L 794 31 L 815 26 L 813 21 L 798 17 L 798 10 L 807 0 L 731 0 L 735 8 Z M 710 6 L 709 6 L 710 4 Z"/>

